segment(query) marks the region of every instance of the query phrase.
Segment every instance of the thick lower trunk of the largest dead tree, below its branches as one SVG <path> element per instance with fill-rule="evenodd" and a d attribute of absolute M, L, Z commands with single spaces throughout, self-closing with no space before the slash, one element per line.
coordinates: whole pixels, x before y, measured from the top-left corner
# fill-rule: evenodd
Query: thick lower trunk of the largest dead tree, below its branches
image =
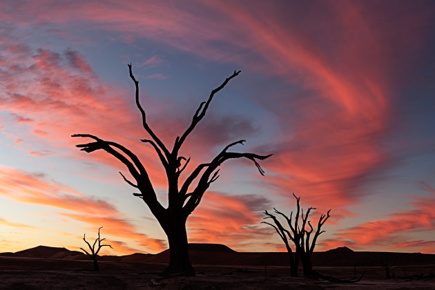
<path fill-rule="evenodd" d="M 169 266 L 164 273 L 167 275 L 195 276 L 195 270 L 189 259 L 186 221 L 171 221 L 165 232 L 169 242 Z"/>

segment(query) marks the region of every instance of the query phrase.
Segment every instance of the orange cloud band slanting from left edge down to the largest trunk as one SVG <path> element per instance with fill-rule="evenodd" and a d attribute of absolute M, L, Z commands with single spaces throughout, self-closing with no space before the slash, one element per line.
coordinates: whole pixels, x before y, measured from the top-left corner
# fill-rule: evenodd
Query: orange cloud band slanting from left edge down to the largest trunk
<path fill-rule="evenodd" d="M 137 233 L 135 226 L 112 204 L 95 197 L 88 197 L 57 182 L 46 182 L 43 180 L 43 175 L 0 166 L 0 196 L 18 202 L 64 209 L 69 212 L 58 214 L 85 222 L 93 228 L 104 226 L 104 231 L 108 235 L 133 240 L 151 251 L 165 249 L 164 241 Z M 26 227 L 6 220 L 0 222 L 19 228 Z"/>

